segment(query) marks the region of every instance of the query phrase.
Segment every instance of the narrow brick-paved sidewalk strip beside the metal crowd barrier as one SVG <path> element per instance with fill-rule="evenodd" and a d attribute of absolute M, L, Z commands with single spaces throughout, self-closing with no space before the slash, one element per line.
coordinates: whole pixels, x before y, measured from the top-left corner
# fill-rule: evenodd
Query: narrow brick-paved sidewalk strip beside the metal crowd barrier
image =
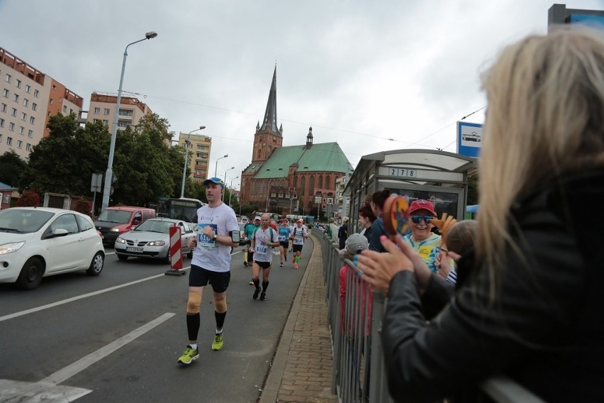
<path fill-rule="evenodd" d="M 332 347 L 325 302 L 323 253 L 311 234 L 313 253 L 279 339 L 260 403 L 337 402 L 331 393 Z"/>

